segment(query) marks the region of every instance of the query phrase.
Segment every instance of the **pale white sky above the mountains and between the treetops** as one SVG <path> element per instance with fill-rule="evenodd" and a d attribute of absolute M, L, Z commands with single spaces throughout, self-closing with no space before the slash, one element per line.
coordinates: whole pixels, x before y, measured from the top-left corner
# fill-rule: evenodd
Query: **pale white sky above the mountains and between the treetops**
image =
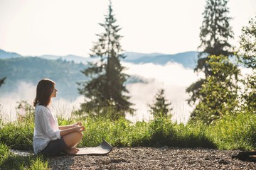
<path fill-rule="evenodd" d="M 108 0 L 0 0 L 0 49 L 21 55 L 87 57 L 102 33 Z M 112 0 L 123 49 L 175 54 L 197 50 L 205 0 Z M 230 0 L 230 25 L 238 45 L 256 0 Z"/>

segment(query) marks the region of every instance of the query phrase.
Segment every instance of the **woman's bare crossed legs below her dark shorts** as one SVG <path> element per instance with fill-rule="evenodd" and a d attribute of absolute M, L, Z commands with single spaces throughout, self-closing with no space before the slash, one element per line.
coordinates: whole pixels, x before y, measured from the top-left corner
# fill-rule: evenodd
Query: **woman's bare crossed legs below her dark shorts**
<path fill-rule="evenodd" d="M 65 152 L 68 154 L 75 154 L 79 151 L 76 146 L 82 140 L 82 132 L 71 132 L 63 136 L 65 144 L 68 146 L 68 149 L 65 149 Z"/>

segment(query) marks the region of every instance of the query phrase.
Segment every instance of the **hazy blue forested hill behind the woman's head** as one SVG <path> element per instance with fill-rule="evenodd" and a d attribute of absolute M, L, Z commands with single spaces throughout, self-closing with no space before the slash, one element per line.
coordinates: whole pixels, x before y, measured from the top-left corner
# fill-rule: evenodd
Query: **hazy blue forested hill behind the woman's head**
<path fill-rule="evenodd" d="M 59 89 L 58 95 L 65 98 L 78 96 L 76 82 L 87 78 L 80 71 L 85 64 L 75 64 L 65 60 L 46 60 L 39 57 L 18 57 L 0 60 L 0 78 L 7 77 L 0 88 L 1 94 L 17 90 L 18 82 L 31 83 L 36 86 L 43 78 L 53 79 Z"/>

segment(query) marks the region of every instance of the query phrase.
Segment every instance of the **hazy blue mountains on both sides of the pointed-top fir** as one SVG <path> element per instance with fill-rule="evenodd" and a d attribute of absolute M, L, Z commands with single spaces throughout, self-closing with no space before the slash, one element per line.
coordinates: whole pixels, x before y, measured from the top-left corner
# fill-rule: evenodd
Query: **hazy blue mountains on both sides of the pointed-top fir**
<path fill-rule="evenodd" d="M 198 52 L 183 52 L 176 55 L 164 55 L 161 53 L 137 53 L 126 52 L 124 62 L 134 64 L 152 62 L 154 64 L 166 64 L 167 62 L 178 62 L 187 68 L 195 68 Z M 90 57 L 76 55 L 56 56 L 41 55 L 39 57 L 24 57 L 15 52 L 0 50 L 0 79 L 7 77 L 0 88 L 0 96 L 18 92 L 21 82 L 36 86 L 43 78 L 53 79 L 59 89 L 60 98 L 74 99 L 78 94 L 77 82 L 87 81 L 80 71 L 87 68 L 87 62 L 92 61 Z M 137 82 L 146 83 L 143 77 L 131 76 L 125 84 Z M 29 88 L 29 87 L 28 87 Z"/>

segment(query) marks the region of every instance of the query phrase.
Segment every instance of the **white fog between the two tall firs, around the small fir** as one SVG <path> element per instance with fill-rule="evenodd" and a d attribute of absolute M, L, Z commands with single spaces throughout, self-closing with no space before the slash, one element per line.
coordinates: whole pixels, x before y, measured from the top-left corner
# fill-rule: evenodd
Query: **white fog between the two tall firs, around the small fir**
<path fill-rule="evenodd" d="M 147 84 L 128 84 L 130 101 L 135 103 L 137 111 L 134 116 L 127 115 L 132 121 L 151 120 L 149 104 L 154 101 L 154 96 L 159 89 L 165 90 L 166 99 L 172 103 L 174 108 L 172 120 L 178 123 L 186 123 L 193 107 L 188 106 L 186 88 L 197 81 L 203 74 L 196 74 L 193 69 L 186 69 L 181 64 L 169 62 L 165 65 L 147 63 L 132 64 L 122 63 L 127 67 L 126 74 L 144 77 L 148 79 Z"/>

